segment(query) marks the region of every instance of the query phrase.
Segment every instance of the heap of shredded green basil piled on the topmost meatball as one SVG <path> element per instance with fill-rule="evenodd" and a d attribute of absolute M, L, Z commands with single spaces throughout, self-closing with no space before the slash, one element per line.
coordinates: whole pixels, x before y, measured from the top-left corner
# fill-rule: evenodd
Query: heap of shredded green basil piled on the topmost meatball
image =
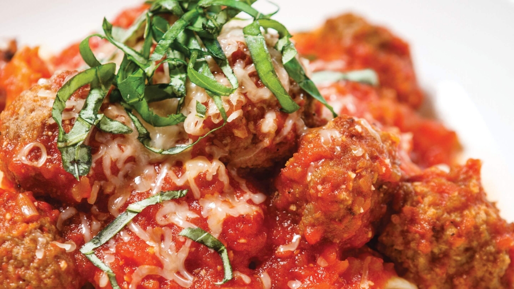
<path fill-rule="evenodd" d="M 83 142 L 93 125 L 102 131 L 114 134 L 132 132 L 123 123 L 98 114 L 100 105 L 109 91 L 111 91 L 109 100 L 119 102 L 125 107 L 137 128 L 139 141 L 156 153 L 180 153 L 223 127 L 227 123 L 227 115 L 222 97 L 231 95 L 237 89 L 238 82 L 217 37 L 222 27 L 240 12 L 250 15 L 254 20 L 243 30 L 247 46 L 261 81 L 277 97 L 282 111 L 292 113 L 299 110 L 300 106 L 292 100 L 278 79 L 261 31 L 263 28 L 274 29 L 279 33 L 280 39 L 276 49 L 282 53 L 284 68 L 289 76 L 297 81 L 306 93 L 321 101 L 336 116 L 332 107 L 321 97 L 314 83 L 305 75 L 296 58 L 297 51 L 289 41 L 291 35 L 287 29 L 277 21 L 270 20 L 274 13 L 262 14 L 251 7 L 253 2 L 255 0 L 156 0 L 150 2 L 152 4 L 150 9 L 127 29 L 114 27 L 104 19 L 102 25 L 104 35 L 90 35 L 79 45 L 84 62 L 91 68 L 70 79 L 60 89 L 53 104 L 52 117 L 59 125 L 58 147 L 61 150 L 65 170 L 77 179 L 89 172 L 91 151 L 90 147 Z M 172 15 L 178 19 L 170 25 L 167 19 Z M 106 39 L 124 53 L 117 73 L 114 63 L 103 64 L 104 60 L 99 61 L 95 57 L 89 47 L 91 37 Z M 141 38 L 142 47 L 136 49 L 135 44 Z M 154 44 L 155 49 L 151 52 Z M 214 78 L 207 65 L 208 57 L 212 57 L 219 69 L 223 71 L 230 86 L 225 86 Z M 170 82 L 155 84 L 153 75 L 164 63 L 168 64 L 166 69 L 169 70 Z M 184 121 L 186 116 L 179 111 L 186 97 L 187 79 L 206 90 L 216 104 L 224 120 L 223 124 L 190 145 L 177 145 L 168 150 L 152 148 L 150 134 L 143 127 L 139 117 L 154 127 L 176 125 Z M 65 102 L 74 91 L 88 84 L 90 92 L 86 104 L 80 111 L 72 130 L 66 134 L 62 127 Z M 178 99 L 175 114 L 161 116 L 150 109 L 149 103 L 171 98 Z M 203 107 L 197 105 L 196 108 L 197 115 L 205 115 Z"/>

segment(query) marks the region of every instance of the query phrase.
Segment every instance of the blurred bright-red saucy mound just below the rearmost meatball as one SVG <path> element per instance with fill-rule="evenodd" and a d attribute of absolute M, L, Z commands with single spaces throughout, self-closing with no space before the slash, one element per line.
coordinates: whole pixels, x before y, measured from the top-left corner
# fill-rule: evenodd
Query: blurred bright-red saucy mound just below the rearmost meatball
<path fill-rule="evenodd" d="M 412 161 L 421 168 L 438 164 L 455 164 L 461 150 L 457 134 L 435 119 L 421 116 L 412 107 L 394 98 L 392 89 L 377 88 L 351 81 L 340 81 L 320 86 L 321 94 L 337 113 L 378 121 L 384 127 L 397 127 L 409 134 L 413 150 Z M 315 103 L 316 116 L 332 116 L 319 103 Z"/>

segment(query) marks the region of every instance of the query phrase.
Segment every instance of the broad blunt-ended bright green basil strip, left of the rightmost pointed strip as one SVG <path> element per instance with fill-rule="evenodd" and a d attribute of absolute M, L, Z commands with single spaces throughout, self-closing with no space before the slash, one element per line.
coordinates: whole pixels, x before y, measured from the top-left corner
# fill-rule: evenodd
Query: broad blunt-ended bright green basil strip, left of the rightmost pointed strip
<path fill-rule="evenodd" d="M 286 113 L 298 111 L 300 106 L 289 96 L 273 67 L 266 40 L 261 33 L 259 21 L 254 21 L 246 26 L 243 29 L 243 33 L 245 34 L 246 45 L 250 50 L 253 64 L 262 83 L 277 97 L 282 106 L 282 111 Z"/>

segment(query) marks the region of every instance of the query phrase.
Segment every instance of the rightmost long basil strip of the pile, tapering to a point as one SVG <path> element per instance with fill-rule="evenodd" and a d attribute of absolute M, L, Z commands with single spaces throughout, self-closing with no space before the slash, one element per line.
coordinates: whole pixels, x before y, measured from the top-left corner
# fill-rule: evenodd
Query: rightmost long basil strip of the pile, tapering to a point
<path fill-rule="evenodd" d="M 333 117 L 337 117 L 337 113 L 334 112 L 333 107 L 326 102 L 314 82 L 305 74 L 302 65 L 296 58 L 298 52 L 295 45 L 293 45 L 289 40 L 289 38 L 291 38 L 291 34 L 289 34 L 286 27 L 281 23 L 270 19 L 259 20 L 259 24 L 264 28 L 271 28 L 279 32 L 280 40 L 277 42 L 276 48 L 282 52 L 282 63 L 284 64 L 287 74 L 289 74 L 289 76 L 295 80 L 306 93 L 325 105 L 325 107 L 332 112 Z"/>

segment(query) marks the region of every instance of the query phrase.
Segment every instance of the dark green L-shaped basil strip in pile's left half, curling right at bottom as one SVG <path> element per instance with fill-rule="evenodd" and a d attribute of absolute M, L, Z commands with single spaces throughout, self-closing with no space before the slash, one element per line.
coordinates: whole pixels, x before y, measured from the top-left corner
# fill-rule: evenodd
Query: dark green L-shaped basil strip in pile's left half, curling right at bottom
<path fill-rule="evenodd" d="M 136 70 L 133 74 L 128 76 L 125 80 L 118 82 L 123 100 L 133 107 L 144 119 L 154 127 L 167 127 L 168 125 L 175 125 L 186 119 L 183 114 L 174 114 L 163 117 L 155 114 L 148 102 L 144 99 L 145 90 L 145 75 L 142 69 Z"/>

